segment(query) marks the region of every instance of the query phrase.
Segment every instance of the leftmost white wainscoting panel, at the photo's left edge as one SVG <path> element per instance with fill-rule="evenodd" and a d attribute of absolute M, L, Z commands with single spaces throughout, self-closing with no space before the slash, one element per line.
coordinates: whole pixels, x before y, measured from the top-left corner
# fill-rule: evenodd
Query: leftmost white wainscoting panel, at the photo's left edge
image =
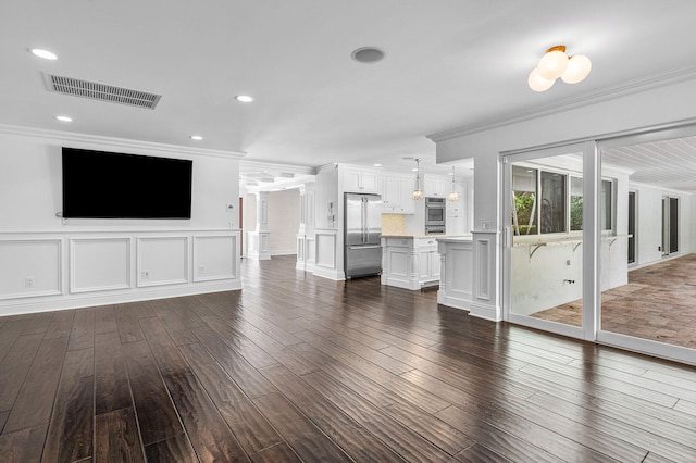
<path fill-rule="evenodd" d="M 0 299 L 61 295 L 60 238 L 0 240 Z"/>

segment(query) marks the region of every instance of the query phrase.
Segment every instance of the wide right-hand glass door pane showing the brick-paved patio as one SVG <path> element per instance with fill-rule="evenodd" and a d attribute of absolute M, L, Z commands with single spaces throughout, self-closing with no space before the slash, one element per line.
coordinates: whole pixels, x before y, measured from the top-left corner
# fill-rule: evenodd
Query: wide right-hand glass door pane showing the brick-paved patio
<path fill-rule="evenodd" d="M 601 236 L 598 338 L 657 355 L 694 359 L 693 352 L 678 349 L 696 348 L 696 254 L 686 241 L 680 243 L 696 217 L 680 213 L 693 199 L 678 190 L 692 188 L 693 174 L 681 167 L 657 174 L 661 165 L 681 165 L 681 143 L 658 140 L 601 151 L 602 183 L 612 183 L 618 200 L 606 204 L 612 226 Z M 659 162 L 650 154 L 657 151 Z"/>

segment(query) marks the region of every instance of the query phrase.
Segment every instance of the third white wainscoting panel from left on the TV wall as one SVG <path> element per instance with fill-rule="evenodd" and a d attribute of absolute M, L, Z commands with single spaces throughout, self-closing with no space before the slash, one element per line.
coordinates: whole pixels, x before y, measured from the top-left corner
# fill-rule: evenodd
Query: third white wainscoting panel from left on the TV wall
<path fill-rule="evenodd" d="M 189 281 L 188 237 L 138 238 L 138 287 Z"/>

